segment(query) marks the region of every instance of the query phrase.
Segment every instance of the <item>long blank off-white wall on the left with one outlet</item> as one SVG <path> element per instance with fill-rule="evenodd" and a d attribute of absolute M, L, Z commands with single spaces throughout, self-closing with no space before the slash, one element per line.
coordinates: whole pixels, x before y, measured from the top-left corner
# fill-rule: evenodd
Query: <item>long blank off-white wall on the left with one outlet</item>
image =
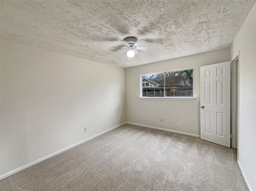
<path fill-rule="evenodd" d="M 2 39 L 0 91 L 1 175 L 126 121 L 123 68 Z"/>

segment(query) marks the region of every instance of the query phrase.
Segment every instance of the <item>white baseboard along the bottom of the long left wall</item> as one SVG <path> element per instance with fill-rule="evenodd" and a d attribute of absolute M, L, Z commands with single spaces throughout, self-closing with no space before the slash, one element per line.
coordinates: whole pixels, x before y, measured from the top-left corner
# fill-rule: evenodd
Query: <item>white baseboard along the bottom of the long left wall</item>
<path fill-rule="evenodd" d="M 36 161 L 33 161 L 33 162 L 31 162 L 31 163 L 28 163 L 28 164 L 26 164 L 26 165 L 24 165 L 24 166 L 22 166 L 22 167 L 19 167 L 19 168 L 17 168 L 17 169 L 14 169 L 14 170 L 12 170 L 12 171 L 10 171 L 10 172 L 8 172 L 8 173 L 5 173 L 5 174 L 3 174 L 3 175 L 0 176 L 0 180 L 1 180 L 1 179 L 4 179 L 4 178 L 6 178 L 6 177 L 8 177 L 8 176 L 10 176 L 10 175 L 12 175 L 12 174 L 14 174 L 14 173 L 17 173 L 17 172 L 19 172 L 19 171 L 22 171 L 22 170 L 24 170 L 24 169 L 26 169 L 26 168 L 28 168 L 28 167 L 31 167 L 31 166 L 33 166 L 33 165 L 35 165 L 35 164 L 37 164 L 37 163 L 40 163 L 41 161 L 44 161 L 44 160 L 46 160 L 46 159 L 48 159 L 48 158 L 51 158 L 51 157 L 53 157 L 53 156 L 55 156 L 55 155 L 57 155 L 57 154 L 60 154 L 61 152 L 64 152 L 64 151 L 66 151 L 66 150 L 68 150 L 68 149 L 70 149 L 70 148 L 72 148 L 72 147 L 75 147 L 75 146 L 77 146 L 77 145 L 79 145 L 79 144 L 82 144 L 82 143 L 84 143 L 84 142 L 86 142 L 86 141 L 88 141 L 88 140 L 91 140 L 91 139 L 93 139 L 93 138 L 95 138 L 95 137 L 97 137 L 97 136 L 100 136 L 100 135 L 102 135 L 102 134 L 104 134 L 104 133 L 106 133 L 106 132 L 108 132 L 108 131 L 111 131 L 111 130 L 113 130 L 113 129 L 115 129 L 115 128 L 118 128 L 118 127 L 120 127 L 120 126 L 122 126 L 122 125 L 124 125 L 124 124 L 126 124 L 126 122 L 124 122 L 124 123 L 122 123 L 122 124 L 120 124 L 120 125 L 118 125 L 118 126 L 112 127 L 112 128 L 110 128 L 110 129 L 108 129 L 108 130 L 106 130 L 106 131 L 104 131 L 104 132 L 99 133 L 99 134 L 96 134 L 96 135 L 94 135 L 94 136 L 91 136 L 91 137 L 89 137 L 89 138 L 87 138 L 87 139 L 84 139 L 84 140 L 82 140 L 82 141 L 80 141 L 80 142 L 78 142 L 78 143 L 72 144 L 72 145 L 70 145 L 70 146 L 68 146 L 68 147 L 66 147 L 66 148 L 64 148 L 64 149 L 61 149 L 61 150 L 59 150 L 59 151 L 56 151 L 56 152 L 54 152 L 54 153 L 52 153 L 52 154 L 49 154 L 49 155 L 47 155 L 47 156 L 45 156 L 45 157 L 43 157 L 43 158 L 40 158 L 40 159 L 38 159 L 38 160 L 36 160 Z"/>

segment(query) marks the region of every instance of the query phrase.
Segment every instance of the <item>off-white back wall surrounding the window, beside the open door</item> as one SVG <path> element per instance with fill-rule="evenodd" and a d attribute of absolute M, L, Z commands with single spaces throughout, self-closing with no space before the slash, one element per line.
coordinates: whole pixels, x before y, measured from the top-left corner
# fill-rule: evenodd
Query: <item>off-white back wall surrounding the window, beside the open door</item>
<path fill-rule="evenodd" d="M 226 61 L 230 61 L 230 48 L 126 68 L 127 121 L 200 135 L 200 66 Z M 139 98 L 141 74 L 191 67 L 194 67 L 195 100 L 156 100 Z M 161 118 L 163 122 L 160 122 Z"/>

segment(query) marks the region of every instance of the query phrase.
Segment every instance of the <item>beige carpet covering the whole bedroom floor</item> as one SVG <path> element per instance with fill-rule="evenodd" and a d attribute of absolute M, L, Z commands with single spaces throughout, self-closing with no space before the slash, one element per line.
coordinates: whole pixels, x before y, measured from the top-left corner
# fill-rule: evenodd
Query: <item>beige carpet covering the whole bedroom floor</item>
<path fill-rule="evenodd" d="M 236 149 L 125 124 L 0 181 L 1 191 L 244 191 Z"/>

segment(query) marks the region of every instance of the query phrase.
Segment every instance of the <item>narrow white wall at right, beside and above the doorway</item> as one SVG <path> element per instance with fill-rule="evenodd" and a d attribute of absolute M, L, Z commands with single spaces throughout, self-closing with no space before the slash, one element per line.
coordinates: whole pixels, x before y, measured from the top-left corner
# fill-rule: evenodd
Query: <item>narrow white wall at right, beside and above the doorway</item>
<path fill-rule="evenodd" d="M 232 46 L 239 53 L 239 164 L 248 187 L 256 191 L 256 4 Z"/>

